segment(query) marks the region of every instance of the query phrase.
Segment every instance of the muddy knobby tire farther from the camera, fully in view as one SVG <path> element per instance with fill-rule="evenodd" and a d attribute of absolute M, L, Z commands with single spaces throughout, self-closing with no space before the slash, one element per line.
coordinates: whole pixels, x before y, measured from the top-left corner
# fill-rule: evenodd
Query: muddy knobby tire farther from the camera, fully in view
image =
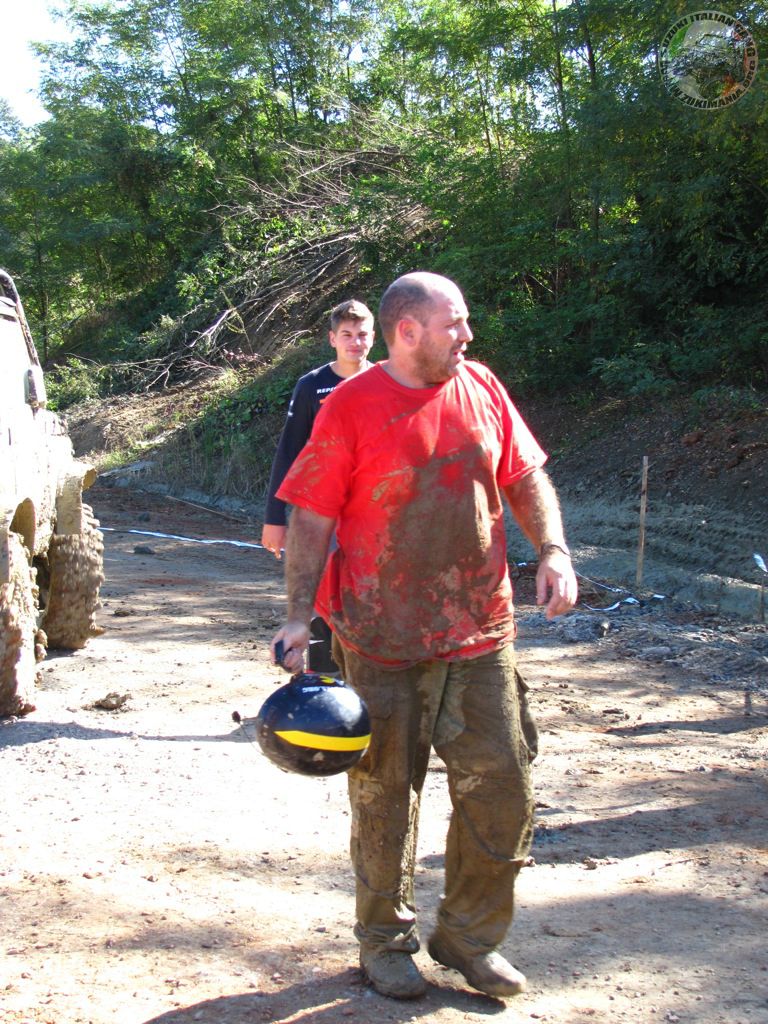
<path fill-rule="evenodd" d="M 103 536 L 83 505 L 79 534 L 54 534 L 48 549 L 48 599 L 43 628 L 50 647 L 79 650 L 103 630 L 96 626 L 98 589 L 104 581 Z"/>

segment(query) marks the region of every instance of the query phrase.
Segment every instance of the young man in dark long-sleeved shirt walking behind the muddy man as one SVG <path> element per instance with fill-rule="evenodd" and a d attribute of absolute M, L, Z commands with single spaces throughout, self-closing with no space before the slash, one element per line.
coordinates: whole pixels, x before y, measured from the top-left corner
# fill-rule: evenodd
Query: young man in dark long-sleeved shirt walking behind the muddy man
<path fill-rule="evenodd" d="M 336 358 L 310 370 L 297 381 L 272 461 L 261 543 L 275 558 L 281 557 L 285 547 L 287 529 L 286 503 L 275 498 L 275 493 L 309 439 L 325 399 L 342 381 L 371 366 L 368 353 L 374 343 L 374 314 L 356 299 L 342 302 L 331 312 L 328 337 Z"/>

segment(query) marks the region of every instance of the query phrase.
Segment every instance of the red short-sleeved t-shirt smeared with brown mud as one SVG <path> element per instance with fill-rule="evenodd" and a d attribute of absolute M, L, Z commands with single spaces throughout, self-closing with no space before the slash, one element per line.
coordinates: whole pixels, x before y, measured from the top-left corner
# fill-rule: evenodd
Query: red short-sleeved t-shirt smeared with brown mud
<path fill-rule="evenodd" d="M 464 362 L 409 388 L 380 366 L 329 395 L 278 497 L 336 518 L 315 606 L 388 665 L 476 657 L 514 635 L 501 488 L 546 461 L 504 386 Z"/>

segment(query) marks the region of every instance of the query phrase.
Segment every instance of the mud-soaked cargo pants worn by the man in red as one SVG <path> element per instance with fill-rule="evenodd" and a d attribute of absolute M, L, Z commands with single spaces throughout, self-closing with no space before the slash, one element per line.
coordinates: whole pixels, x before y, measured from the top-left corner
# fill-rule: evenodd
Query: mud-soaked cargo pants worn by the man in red
<path fill-rule="evenodd" d="M 434 748 L 453 804 L 438 930 L 463 954 L 489 952 L 512 922 L 532 835 L 537 730 L 513 648 L 391 672 L 335 636 L 334 657 L 372 723 L 371 745 L 349 772 L 357 939 L 370 948 L 419 948 L 414 867 Z"/>

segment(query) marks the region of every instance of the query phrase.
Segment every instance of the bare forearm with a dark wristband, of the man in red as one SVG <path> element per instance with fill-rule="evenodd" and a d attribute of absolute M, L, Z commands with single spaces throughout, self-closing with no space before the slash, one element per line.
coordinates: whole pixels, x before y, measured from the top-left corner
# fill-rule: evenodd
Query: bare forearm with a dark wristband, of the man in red
<path fill-rule="evenodd" d="M 539 554 L 537 604 L 547 605 L 547 618 L 561 615 L 575 604 L 579 585 L 565 544 L 557 492 L 544 470 L 535 469 L 504 487 L 504 494 L 518 526 Z"/>

